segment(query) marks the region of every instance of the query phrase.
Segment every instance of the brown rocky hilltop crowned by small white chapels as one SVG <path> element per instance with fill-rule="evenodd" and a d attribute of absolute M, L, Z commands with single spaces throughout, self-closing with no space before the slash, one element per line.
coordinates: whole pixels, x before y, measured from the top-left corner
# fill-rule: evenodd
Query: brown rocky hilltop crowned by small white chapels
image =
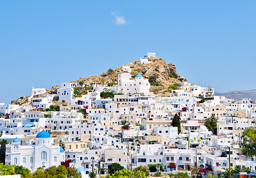
<path fill-rule="evenodd" d="M 178 83 L 181 81 L 187 81 L 184 77 L 181 77 L 177 71 L 175 64 L 167 63 L 162 58 L 151 57 L 149 59 L 151 63 L 149 64 L 139 64 L 139 60 L 125 64 L 124 66 L 130 66 L 131 75 L 134 78 L 136 75 L 141 74 L 144 78 L 148 78 L 151 75 L 156 75 L 156 83 L 163 85 L 158 87 L 159 90 L 167 89 L 170 85 Z M 122 72 L 122 66 L 116 69 L 113 69 L 115 74 L 112 75 L 112 82 L 118 80 L 118 73 Z M 85 83 L 99 83 L 102 78 L 105 78 L 105 83 L 110 83 L 110 75 L 107 72 L 102 73 L 101 75 L 95 75 L 91 77 L 80 78 L 79 80 L 73 82 L 83 81 Z M 151 86 L 151 90 L 154 90 L 157 86 Z"/>

